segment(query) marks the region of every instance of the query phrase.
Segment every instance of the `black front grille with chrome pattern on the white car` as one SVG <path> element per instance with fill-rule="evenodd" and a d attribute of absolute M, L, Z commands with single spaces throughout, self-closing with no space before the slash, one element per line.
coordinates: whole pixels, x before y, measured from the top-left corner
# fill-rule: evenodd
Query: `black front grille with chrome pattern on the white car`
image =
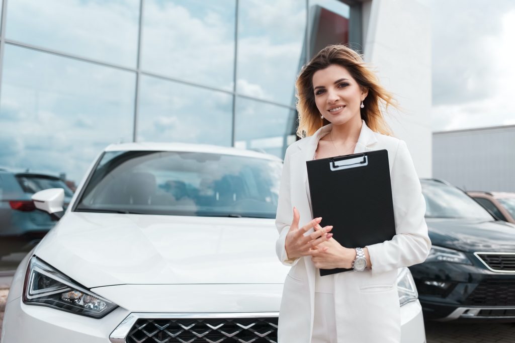
<path fill-rule="evenodd" d="M 277 343 L 278 318 L 139 319 L 127 343 Z"/>

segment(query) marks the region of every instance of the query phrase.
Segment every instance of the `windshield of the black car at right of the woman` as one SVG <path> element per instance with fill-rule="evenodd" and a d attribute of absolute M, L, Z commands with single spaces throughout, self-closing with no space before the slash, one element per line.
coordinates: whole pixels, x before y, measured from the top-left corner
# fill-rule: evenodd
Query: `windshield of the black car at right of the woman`
<path fill-rule="evenodd" d="M 466 218 L 492 221 L 481 205 L 458 188 L 440 182 L 421 182 L 426 218 Z"/>

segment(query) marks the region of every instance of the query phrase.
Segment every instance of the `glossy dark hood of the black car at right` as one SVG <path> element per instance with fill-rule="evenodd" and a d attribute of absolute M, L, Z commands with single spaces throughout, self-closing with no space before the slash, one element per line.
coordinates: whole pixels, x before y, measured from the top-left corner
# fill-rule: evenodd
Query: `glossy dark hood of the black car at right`
<path fill-rule="evenodd" d="M 426 218 L 433 245 L 466 252 L 515 252 L 515 226 L 504 221 Z"/>

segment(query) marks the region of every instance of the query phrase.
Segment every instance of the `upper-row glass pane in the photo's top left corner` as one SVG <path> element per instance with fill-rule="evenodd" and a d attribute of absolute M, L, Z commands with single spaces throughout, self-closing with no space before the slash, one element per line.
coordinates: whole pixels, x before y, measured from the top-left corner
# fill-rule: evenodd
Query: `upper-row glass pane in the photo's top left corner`
<path fill-rule="evenodd" d="M 136 66 L 140 0 L 15 0 L 6 38 Z"/>

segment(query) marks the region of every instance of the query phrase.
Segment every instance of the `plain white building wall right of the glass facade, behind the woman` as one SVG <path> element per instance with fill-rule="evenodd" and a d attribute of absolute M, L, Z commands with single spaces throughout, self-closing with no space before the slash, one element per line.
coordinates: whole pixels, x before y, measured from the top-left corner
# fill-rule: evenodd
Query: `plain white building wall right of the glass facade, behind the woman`
<path fill-rule="evenodd" d="M 416 0 L 364 2 L 364 55 L 402 112 L 389 111 L 394 135 L 406 141 L 419 177 L 432 176 L 431 12 Z"/>

